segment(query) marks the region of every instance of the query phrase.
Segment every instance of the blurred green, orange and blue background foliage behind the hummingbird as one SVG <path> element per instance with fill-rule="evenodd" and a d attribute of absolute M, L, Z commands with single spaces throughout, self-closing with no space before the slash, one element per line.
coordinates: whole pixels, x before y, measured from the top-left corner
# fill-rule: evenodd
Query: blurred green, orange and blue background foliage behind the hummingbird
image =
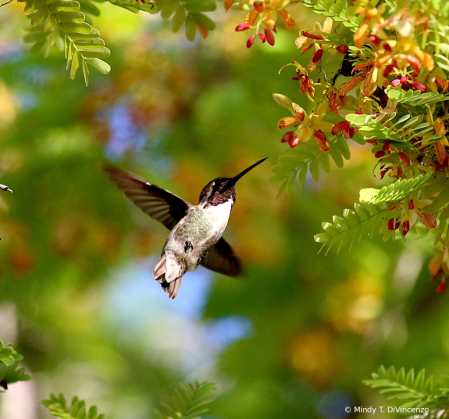
<path fill-rule="evenodd" d="M 310 109 L 293 70 L 277 73 L 301 59 L 294 39 L 314 15 L 299 8 L 275 47 L 247 49 L 237 11 L 212 14 L 217 30 L 190 43 L 158 16 L 104 4 L 95 27 L 112 71 L 92 71 L 86 88 L 61 51 L 28 53 L 22 7 L 0 9 L 0 182 L 14 190 L 0 194 L 0 339 L 33 379 L 1 395 L 0 418 L 49 418 L 39 401 L 50 392 L 151 418 L 198 379 L 218 387 L 210 419 L 339 419 L 354 417 L 345 406 L 394 405 L 362 384 L 381 364 L 447 371 L 448 296 L 429 280 L 430 241 L 317 254 L 321 222 L 381 185 L 369 148 L 279 199 L 267 183 L 287 147 L 271 94 Z M 244 278 L 200 268 L 168 300 L 151 275 L 168 232 L 101 164 L 196 203 L 211 179 L 263 157 L 237 185 L 225 233 Z"/>

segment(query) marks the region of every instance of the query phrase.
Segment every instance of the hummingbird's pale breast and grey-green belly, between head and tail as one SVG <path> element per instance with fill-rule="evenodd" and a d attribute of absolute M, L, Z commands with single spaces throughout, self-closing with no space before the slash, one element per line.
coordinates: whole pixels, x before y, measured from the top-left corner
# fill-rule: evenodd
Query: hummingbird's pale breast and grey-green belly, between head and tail
<path fill-rule="evenodd" d="M 164 251 L 181 259 L 186 270 L 195 270 L 208 250 L 223 235 L 231 208 L 231 201 L 207 209 L 201 205 L 191 207 L 170 233 Z"/>

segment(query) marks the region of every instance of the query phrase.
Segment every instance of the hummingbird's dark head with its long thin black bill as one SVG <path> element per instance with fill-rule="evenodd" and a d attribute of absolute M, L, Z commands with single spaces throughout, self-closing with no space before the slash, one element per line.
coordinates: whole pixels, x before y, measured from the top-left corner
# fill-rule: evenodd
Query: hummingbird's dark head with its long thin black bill
<path fill-rule="evenodd" d="M 244 175 L 246 175 L 251 169 L 254 169 L 257 165 L 266 160 L 265 157 L 262 160 L 259 160 L 257 163 L 254 163 L 252 166 L 246 168 L 242 172 L 240 172 L 237 176 L 232 178 L 229 177 L 217 177 L 214 180 L 211 180 L 201 191 L 200 194 L 200 205 L 203 205 L 204 208 L 208 208 L 211 205 L 217 206 L 220 204 L 224 204 L 225 202 L 231 201 L 231 206 L 234 205 L 236 200 L 235 193 L 235 184 L 236 182 Z"/>

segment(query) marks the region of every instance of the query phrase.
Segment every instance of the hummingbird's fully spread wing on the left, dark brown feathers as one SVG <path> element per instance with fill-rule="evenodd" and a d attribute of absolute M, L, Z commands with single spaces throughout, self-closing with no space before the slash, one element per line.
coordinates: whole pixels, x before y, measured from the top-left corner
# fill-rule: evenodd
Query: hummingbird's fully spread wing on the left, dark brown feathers
<path fill-rule="evenodd" d="M 103 170 L 143 212 L 169 230 L 187 214 L 190 204 L 165 189 L 111 166 Z"/>

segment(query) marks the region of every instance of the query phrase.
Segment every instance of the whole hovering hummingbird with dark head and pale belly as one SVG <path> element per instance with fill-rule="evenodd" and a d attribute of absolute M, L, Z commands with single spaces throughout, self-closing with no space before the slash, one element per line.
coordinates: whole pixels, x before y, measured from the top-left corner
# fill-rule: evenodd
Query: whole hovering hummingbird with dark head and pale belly
<path fill-rule="evenodd" d="M 259 160 L 233 178 L 211 180 L 201 191 L 199 204 L 192 205 L 171 192 L 136 178 L 120 169 L 104 171 L 143 212 L 170 230 L 154 279 L 173 299 L 182 276 L 199 265 L 228 276 L 238 276 L 242 267 L 229 244 L 221 237 L 235 204 L 236 182 L 262 163 Z"/>

